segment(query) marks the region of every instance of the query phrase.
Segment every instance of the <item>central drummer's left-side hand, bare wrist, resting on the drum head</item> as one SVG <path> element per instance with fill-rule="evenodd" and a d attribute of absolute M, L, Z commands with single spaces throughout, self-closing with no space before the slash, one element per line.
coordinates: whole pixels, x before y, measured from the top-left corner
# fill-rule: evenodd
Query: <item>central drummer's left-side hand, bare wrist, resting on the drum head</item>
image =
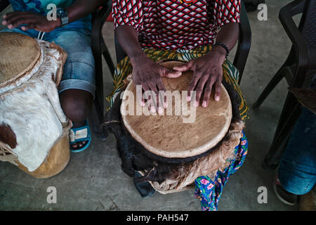
<path fill-rule="evenodd" d="M 136 58 L 131 58 L 131 63 L 133 65 L 133 82 L 136 86 L 141 85 L 143 91 L 154 91 L 157 99 L 148 99 L 149 110 L 154 113 L 162 113 L 163 108 L 159 108 L 159 98 L 160 103 L 163 103 L 164 108 L 167 107 L 166 97 L 162 100 L 162 96 L 159 96 L 159 91 L 166 91 L 164 84 L 162 83 L 162 77 L 176 78 L 182 75 L 182 72 L 176 72 L 164 68 L 162 65 L 155 63 L 147 56 L 138 56 Z M 144 99 L 137 99 L 140 105 L 145 106 Z M 154 107 L 151 107 L 154 105 Z M 151 107 L 151 108 L 150 108 Z"/>

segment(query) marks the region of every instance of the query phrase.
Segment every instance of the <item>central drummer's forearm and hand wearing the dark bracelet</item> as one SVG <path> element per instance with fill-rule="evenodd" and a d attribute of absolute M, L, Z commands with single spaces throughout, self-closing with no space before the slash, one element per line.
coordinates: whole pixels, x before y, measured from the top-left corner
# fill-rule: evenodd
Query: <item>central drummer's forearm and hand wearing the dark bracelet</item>
<path fill-rule="evenodd" d="M 231 50 L 239 37 L 239 24 L 238 23 L 226 23 L 218 32 L 216 41 L 225 44 L 229 50 Z M 202 106 L 206 107 L 209 104 L 212 89 L 215 89 L 214 99 L 220 100 L 220 84 L 223 79 L 222 65 L 225 61 L 226 50 L 223 46 L 213 46 L 211 51 L 205 56 L 191 60 L 185 65 L 174 70 L 185 72 L 187 70 L 193 71 L 193 78 L 188 88 L 190 91 L 196 91 L 196 103 L 198 106 L 202 98 L 202 92 L 204 90 L 204 96 L 202 100 Z M 188 101 L 190 101 L 190 97 Z"/>

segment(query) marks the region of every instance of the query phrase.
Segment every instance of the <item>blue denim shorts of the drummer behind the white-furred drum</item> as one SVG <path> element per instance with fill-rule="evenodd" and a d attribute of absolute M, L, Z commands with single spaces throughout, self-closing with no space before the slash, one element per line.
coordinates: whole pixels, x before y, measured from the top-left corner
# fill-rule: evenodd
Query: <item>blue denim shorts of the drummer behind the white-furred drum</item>
<path fill-rule="evenodd" d="M 91 31 L 75 27 L 58 27 L 52 32 L 43 33 L 37 30 L 23 31 L 20 28 L 6 28 L 1 32 L 18 32 L 30 37 L 55 42 L 67 52 L 62 80 L 58 92 L 67 89 L 81 89 L 95 96 L 95 64 L 91 50 Z"/>

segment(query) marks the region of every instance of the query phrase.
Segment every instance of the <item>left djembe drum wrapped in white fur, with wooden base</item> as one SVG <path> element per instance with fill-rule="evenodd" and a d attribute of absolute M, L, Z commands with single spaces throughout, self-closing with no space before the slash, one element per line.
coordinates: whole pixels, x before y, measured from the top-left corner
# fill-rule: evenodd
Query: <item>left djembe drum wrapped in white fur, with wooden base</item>
<path fill-rule="evenodd" d="M 0 160 L 47 178 L 70 160 L 70 122 L 57 86 L 67 53 L 24 34 L 0 33 Z"/>

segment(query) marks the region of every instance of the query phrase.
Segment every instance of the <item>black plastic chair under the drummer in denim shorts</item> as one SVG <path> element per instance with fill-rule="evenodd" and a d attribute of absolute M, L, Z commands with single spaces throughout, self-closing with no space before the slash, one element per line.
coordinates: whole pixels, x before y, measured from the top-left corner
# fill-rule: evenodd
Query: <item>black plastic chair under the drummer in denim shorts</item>
<path fill-rule="evenodd" d="M 4 9 L 9 5 L 10 2 L 8 0 L 0 0 L 0 12 L 4 11 Z M 89 122 L 96 136 L 100 139 L 105 139 L 107 136 L 107 131 L 100 127 L 100 124 L 103 121 L 103 116 L 105 115 L 102 57 L 105 58 L 112 75 L 114 73 L 114 63 L 102 36 L 102 27 L 111 11 L 112 1 L 107 1 L 107 3 L 93 13 L 92 16 L 91 49 L 96 63 L 96 98 L 93 102 L 91 114 L 89 115 Z"/>

